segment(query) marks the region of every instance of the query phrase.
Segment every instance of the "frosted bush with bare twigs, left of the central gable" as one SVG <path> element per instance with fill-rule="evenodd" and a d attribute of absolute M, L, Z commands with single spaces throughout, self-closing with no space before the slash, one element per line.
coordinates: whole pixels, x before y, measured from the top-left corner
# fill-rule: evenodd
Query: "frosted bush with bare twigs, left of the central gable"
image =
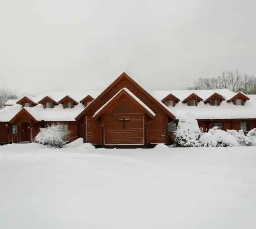
<path fill-rule="evenodd" d="M 66 145 L 69 135 L 70 131 L 64 130 L 62 124 L 51 124 L 51 126 L 46 128 L 40 128 L 35 141 L 48 147 L 62 148 L 63 145 Z"/>

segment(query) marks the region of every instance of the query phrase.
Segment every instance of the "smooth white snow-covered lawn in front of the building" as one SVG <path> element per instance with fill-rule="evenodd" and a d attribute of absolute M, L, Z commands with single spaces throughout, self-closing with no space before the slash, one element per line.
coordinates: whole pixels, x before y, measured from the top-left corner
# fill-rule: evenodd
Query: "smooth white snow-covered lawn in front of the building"
<path fill-rule="evenodd" d="M 255 229 L 256 147 L 0 147 L 1 229 Z"/>

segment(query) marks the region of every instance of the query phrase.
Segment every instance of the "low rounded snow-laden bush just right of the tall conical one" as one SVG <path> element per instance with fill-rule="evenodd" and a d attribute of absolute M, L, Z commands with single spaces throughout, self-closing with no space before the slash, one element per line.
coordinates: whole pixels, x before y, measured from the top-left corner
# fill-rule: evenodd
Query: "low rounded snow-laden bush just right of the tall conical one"
<path fill-rule="evenodd" d="M 209 129 L 207 133 L 203 133 L 200 137 L 200 142 L 204 147 L 225 147 L 240 145 L 234 135 L 218 129 L 217 126 Z"/>

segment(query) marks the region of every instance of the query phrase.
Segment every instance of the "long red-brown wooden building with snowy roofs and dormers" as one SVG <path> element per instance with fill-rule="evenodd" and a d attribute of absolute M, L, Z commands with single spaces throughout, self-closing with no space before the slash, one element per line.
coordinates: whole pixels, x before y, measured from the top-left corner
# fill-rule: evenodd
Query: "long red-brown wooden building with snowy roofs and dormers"
<path fill-rule="evenodd" d="M 39 129 L 62 123 L 98 147 L 171 144 L 179 118 L 191 113 L 203 131 L 256 127 L 256 98 L 220 90 L 149 91 L 121 74 L 103 91 L 52 92 L 9 100 L 0 110 L 0 143 L 33 142 Z"/>

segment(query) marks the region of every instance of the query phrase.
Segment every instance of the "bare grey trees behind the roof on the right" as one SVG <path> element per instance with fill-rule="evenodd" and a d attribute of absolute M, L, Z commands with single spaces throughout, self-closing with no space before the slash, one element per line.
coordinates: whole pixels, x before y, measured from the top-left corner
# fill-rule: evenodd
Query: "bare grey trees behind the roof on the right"
<path fill-rule="evenodd" d="M 243 92 L 245 94 L 256 94 L 256 77 L 240 74 L 236 71 L 223 71 L 217 77 L 202 78 L 194 81 L 194 86 L 188 90 L 207 89 L 228 89 L 233 92 Z"/>

